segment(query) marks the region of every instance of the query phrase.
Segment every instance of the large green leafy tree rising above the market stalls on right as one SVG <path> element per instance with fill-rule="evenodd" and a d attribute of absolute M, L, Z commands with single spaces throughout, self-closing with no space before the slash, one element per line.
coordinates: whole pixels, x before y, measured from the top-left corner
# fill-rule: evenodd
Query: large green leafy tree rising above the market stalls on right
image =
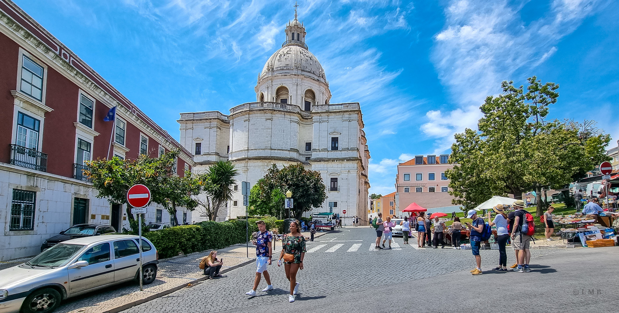
<path fill-rule="evenodd" d="M 480 107 L 478 130 L 456 134 L 446 170 L 453 204 L 471 209 L 493 195 L 511 193 L 521 199 L 530 190 L 562 188 L 582 171 L 593 169 L 610 141 L 602 131 L 579 131 L 578 123 L 547 120 L 559 86 L 530 77 L 525 93 L 512 81 L 503 81 L 503 93 L 488 96 Z M 588 152 L 587 152 L 588 151 Z"/>

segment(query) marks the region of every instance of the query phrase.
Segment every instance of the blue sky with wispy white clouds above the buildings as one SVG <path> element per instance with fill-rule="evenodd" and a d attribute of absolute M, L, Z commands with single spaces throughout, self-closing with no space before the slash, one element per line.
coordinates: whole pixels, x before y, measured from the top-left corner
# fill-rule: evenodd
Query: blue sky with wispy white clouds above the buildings
<path fill-rule="evenodd" d="M 255 100 L 294 14 L 294 1 L 14 1 L 177 139 L 180 112 Z M 503 80 L 559 83 L 551 117 L 619 138 L 618 1 L 299 1 L 299 19 L 331 102 L 361 103 L 371 192 L 394 191 L 399 160 L 448 152 Z"/>

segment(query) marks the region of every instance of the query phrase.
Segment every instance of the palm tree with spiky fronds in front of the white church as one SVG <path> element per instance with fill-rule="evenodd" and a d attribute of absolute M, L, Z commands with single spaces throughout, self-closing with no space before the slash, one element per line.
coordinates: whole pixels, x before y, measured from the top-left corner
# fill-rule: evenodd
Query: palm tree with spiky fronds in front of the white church
<path fill-rule="evenodd" d="M 217 161 L 210 165 L 209 170 L 203 175 L 203 180 L 207 182 L 204 190 L 209 194 L 213 204 L 213 216 L 209 218 L 215 220 L 222 204 L 232 200 L 232 187 L 236 184 L 234 178 L 238 175 L 238 170 L 229 161 Z"/>

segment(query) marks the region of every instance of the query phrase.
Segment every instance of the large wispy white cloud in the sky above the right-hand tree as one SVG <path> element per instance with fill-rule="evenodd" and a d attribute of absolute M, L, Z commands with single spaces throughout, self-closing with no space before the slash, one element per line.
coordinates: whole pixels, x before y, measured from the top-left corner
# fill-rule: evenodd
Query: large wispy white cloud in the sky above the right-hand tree
<path fill-rule="evenodd" d="M 428 111 L 421 130 L 436 138 L 435 152 L 449 149 L 453 134 L 476 128 L 483 99 L 500 91 L 503 80 L 529 75 L 556 52 L 556 43 L 581 25 L 601 1 L 555 0 L 552 9 L 526 25 L 522 4 L 506 0 L 452 0 L 444 10 L 446 24 L 435 36 L 432 60 L 452 101 L 453 111 Z M 521 76 L 522 76 L 521 75 Z"/>

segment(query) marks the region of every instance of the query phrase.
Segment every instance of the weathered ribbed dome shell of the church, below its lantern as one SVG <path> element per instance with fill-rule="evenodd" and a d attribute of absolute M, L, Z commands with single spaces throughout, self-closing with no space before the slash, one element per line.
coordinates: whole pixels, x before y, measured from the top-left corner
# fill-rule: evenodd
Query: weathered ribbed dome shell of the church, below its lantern
<path fill-rule="evenodd" d="M 291 40 L 296 41 L 296 40 Z M 264 64 L 260 79 L 274 75 L 300 74 L 326 83 L 322 65 L 316 56 L 299 43 L 284 43 Z"/>

